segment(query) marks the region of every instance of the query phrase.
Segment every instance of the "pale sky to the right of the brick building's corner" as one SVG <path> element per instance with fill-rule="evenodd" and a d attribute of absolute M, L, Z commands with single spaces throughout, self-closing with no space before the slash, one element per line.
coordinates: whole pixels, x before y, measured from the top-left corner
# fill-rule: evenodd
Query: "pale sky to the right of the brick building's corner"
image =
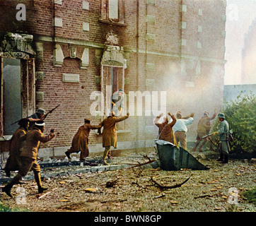
<path fill-rule="evenodd" d="M 256 0 L 227 0 L 225 85 L 243 84 L 241 80 L 242 49 L 245 34 L 255 18 Z"/>

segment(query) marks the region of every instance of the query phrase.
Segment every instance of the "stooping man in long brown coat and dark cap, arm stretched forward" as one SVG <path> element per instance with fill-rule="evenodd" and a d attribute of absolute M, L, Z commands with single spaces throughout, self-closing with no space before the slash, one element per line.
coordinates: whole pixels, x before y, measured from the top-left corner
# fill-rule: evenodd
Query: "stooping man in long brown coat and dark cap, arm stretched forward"
<path fill-rule="evenodd" d="M 92 126 L 90 119 L 84 119 L 83 126 L 80 126 L 76 135 L 73 138 L 71 148 L 65 152 L 70 159 L 71 153 L 80 153 L 80 161 L 84 161 L 89 155 L 88 137 L 91 129 L 99 129 L 101 126 Z"/>

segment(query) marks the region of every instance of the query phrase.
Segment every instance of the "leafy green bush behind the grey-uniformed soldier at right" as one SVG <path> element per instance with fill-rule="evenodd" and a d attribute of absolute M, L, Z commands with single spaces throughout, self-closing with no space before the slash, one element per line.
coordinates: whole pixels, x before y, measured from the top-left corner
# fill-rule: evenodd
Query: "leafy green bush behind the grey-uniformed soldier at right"
<path fill-rule="evenodd" d="M 231 153 L 253 153 L 256 150 L 256 98 L 252 93 L 228 102 L 223 111 L 228 121 L 229 129 L 233 130 L 234 140 L 230 142 Z M 219 130 L 217 119 L 212 131 Z"/>

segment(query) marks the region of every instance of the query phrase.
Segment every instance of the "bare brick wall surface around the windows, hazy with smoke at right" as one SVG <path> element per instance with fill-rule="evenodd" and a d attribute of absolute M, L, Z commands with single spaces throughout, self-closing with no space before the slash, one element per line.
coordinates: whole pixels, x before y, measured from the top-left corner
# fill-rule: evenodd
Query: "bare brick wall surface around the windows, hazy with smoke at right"
<path fill-rule="evenodd" d="M 95 78 L 100 78 L 105 35 L 110 30 L 119 38 L 118 44 L 124 48 L 127 59 L 125 93 L 138 88 L 141 92 L 148 90 L 150 93 L 166 91 L 167 112 L 195 113 L 194 124 L 189 130 L 189 135 L 194 138 L 197 121 L 204 111 L 211 114 L 214 108 L 221 109 L 225 1 L 139 1 L 137 17 L 136 1 L 126 0 L 124 25 L 100 21 L 100 2 L 59 0 L 53 5 L 52 0 L 33 1 L 36 16 L 28 17 L 27 23 L 30 23 L 29 33 L 34 35 L 37 46 L 40 45 L 37 50 L 42 54 L 40 58 L 36 56 L 35 71 L 43 74 L 36 81 L 36 92 L 43 95 L 43 100 L 37 98 L 36 104 L 46 110 L 62 104 L 45 119 L 45 133 L 54 127 L 60 133 L 59 137 L 42 145 L 42 148 L 71 145 L 84 118 L 90 118 L 92 124 L 100 123 L 100 119 L 90 114 L 93 103 L 90 95 L 101 90 Z M 139 61 L 136 61 L 137 41 Z M 54 54 L 56 44 L 64 54 L 63 61 L 57 64 L 54 63 L 58 57 Z M 81 53 L 76 52 L 76 58 L 71 58 L 71 46 L 75 46 L 77 52 L 88 48 L 86 69 L 81 68 Z M 78 75 L 79 82 L 63 81 L 65 73 Z M 160 102 L 158 99 L 158 105 Z M 153 119 L 153 115 L 129 117 L 124 121 L 124 129 L 130 133 L 119 133 L 118 141 L 156 138 Z M 101 139 L 91 132 L 90 143 L 101 143 Z"/>

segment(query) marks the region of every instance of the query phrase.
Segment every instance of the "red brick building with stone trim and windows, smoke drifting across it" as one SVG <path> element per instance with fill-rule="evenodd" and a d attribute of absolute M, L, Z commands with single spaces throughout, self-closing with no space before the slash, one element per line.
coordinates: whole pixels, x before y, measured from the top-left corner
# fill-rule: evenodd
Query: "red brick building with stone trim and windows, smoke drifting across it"
<path fill-rule="evenodd" d="M 226 1 L 6 0 L 0 11 L 2 150 L 11 122 L 61 104 L 45 119 L 45 132 L 60 134 L 41 148 L 63 154 L 84 118 L 99 124 L 108 114 L 107 95 L 119 88 L 135 112 L 120 124 L 122 149 L 153 145 L 155 105 L 194 112 L 193 141 L 204 111 L 222 107 Z M 90 150 L 101 141 L 91 131 Z"/>

